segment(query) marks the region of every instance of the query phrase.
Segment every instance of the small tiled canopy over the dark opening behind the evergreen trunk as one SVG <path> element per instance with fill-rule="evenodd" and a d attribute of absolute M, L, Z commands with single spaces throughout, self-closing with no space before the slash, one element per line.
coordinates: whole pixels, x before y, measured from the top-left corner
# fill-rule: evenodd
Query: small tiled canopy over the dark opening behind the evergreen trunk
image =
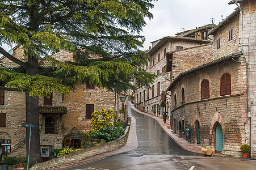
<path fill-rule="evenodd" d="M 39 113 L 41 114 L 66 114 L 68 111 L 65 106 L 39 106 Z"/>

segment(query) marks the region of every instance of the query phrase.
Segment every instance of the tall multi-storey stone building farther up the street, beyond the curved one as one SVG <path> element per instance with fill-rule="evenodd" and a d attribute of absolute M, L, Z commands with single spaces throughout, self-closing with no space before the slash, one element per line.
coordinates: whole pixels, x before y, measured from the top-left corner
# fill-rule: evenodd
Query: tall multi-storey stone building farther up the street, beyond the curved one
<path fill-rule="evenodd" d="M 211 24 L 209 28 L 212 28 L 213 25 Z M 150 47 L 148 51 L 150 62 L 148 66 L 144 66 L 144 69 L 149 73 L 156 74 L 157 78 L 154 79 L 150 88 L 137 88 L 135 92 L 136 107 L 158 117 L 161 117 L 165 111 L 170 113 L 170 95 L 166 96 L 166 88 L 182 71 L 212 60 L 211 46 L 209 40 L 184 36 L 163 37 L 153 41 L 152 49 Z"/>

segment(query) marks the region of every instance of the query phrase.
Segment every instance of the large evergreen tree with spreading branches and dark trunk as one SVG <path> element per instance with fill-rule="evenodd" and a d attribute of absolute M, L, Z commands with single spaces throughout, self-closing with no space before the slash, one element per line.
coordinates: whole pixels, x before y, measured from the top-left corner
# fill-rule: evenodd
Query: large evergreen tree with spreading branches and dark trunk
<path fill-rule="evenodd" d="M 115 92 L 134 89 L 133 79 L 136 86 L 149 86 L 154 75 L 141 69 L 148 56 L 138 48 L 144 42 L 140 35 L 144 18 L 152 18 L 152 1 L 0 0 L 1 43 L 23 45 L 27 58 L 24 62 L 0 48 L 20 66 L 0 69 L 0 80 L 26 93 L 27 124 L 39 124 L 38 97 L 69 92 L 75 83 L 88 82 Z M 62 63 L 49 56 L 61 48 L 75 52 L 76 62 Z M 41 58 L 52 66 L 40 66 Z M 27 129 L 27 148 L 28 137 Z M 39 137 L 39 129 L 33 129 L 31 165 L 42 162 Z"/>

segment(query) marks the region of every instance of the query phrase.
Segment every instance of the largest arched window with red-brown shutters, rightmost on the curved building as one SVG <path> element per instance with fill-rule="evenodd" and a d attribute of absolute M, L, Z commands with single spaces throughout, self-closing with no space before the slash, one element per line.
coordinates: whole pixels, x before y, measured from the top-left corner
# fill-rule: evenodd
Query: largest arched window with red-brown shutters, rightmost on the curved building
<path fill-rule="evenodd" d="M 225 73 L 220 79 L 220 95 L 230 95 L 231 94 L 231 75 Z"/>

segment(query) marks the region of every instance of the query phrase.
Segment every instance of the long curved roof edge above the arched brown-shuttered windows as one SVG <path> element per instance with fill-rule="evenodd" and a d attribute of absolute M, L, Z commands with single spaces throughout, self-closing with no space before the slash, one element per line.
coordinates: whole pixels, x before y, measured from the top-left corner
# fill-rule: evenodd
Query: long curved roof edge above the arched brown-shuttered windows
<path fill-rule="evenodd" d="M 233 57 L 239 57 L 239 56 L 241 56 L 241 54 L 242 53 L 237 53 L 236 56 L 229 55 L 229 56 L 217 58 L 217 59 L 215 59 L 213 61 L 210 61 L 210 62 L 207 62 L 207 63 L 203 63 L 203 65 L 194 67 L 194 68 L 192 68 L 190 70 L 187 70 L 187 71 L 184 71 L 183 73 L 179 74 L 177 76 L 177 78 L 175 78 L 173 80 L 173 82 L 171 82 L 170 86 L 167 88 L 166 91 L 171 91 L 171 89 L 179 82 L 179 80 L 181 80 L 183 78 L 184 75 L 187 75 L 189 73 L 193 73 L 195 71 L 204 69 L 205 67 L 208 67 L 208 66 L 216 65 L 217 63 L 220 63 L 220 62 L 223 62 L 223 61 L 227 61 L 229 59 L 232 59 Z"/>

